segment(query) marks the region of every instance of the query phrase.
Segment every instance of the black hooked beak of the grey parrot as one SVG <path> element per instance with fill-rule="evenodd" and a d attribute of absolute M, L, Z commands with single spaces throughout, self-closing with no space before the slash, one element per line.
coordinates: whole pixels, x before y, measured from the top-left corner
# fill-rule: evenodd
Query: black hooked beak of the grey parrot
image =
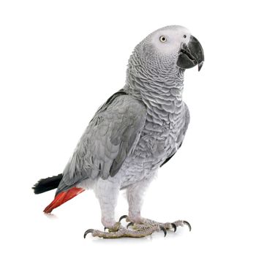
<path fill-rule="evenodd" d="M 200 42 L 193 36 L 190 36 L 187 45 L 181 45 L 181 49 L 178 53 L 177 66 L 183 69 L 189 69 L 195 67 L 198 64 L 198 71 L 203 66 L 204 55 L 203 48 Z"/>

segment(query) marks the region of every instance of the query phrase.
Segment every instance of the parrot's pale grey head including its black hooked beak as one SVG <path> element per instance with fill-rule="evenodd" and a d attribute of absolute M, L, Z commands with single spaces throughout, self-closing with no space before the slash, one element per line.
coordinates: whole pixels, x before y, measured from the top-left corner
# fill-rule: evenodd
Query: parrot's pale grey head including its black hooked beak
<path fill-rule="evenodd" d="M 148 68 L 189 69 L 203 66 L 204 55 L 200 42 L 183 26 L 166 26 L 157 29 L 137 46 L 140 60 Z"/>

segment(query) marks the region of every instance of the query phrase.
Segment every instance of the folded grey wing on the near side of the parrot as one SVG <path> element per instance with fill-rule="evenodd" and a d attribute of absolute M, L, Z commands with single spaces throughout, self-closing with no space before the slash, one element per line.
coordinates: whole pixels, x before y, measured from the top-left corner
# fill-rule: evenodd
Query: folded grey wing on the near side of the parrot
<path fill-rule="evenodd" d="M 142 102 L 118 91 L 102 105 L 64 169 L 56 195 L 86 178 L 106 179 L 118 173 L 135 148 L 146 121 Z"/>

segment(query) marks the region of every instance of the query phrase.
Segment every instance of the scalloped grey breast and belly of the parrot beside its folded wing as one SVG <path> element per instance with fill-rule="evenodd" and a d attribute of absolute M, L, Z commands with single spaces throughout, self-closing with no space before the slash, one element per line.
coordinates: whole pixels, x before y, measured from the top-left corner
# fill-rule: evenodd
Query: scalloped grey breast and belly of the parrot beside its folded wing
<path fill-rule="evenodd" d="M 155 175 L 162 162 L 174 154 L 182 143 L 180 135 L 185 122 L 185 110 L 176 115 L 168 113 L 155 122 L 151 116 L 147 118 L 137 145 L 121 167 L 120 173 L 125 173 L 121 187 Z"/>

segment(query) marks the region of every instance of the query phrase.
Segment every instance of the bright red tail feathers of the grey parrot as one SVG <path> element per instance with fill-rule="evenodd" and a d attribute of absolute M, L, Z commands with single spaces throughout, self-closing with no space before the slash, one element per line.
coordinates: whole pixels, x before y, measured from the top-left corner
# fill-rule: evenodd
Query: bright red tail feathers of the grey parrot
<path fill-rule="evenodd" d="M 68 200 L 72 199 L 76 195 L 83 192 L 85 189 L 80 189 L 78 187 L 72 187 L 72 189 L 69 189 L 67 191 L 60 192 L 56 197 L 54 198 L 53 202 L 49 204 L 44 210 L 45 214 L 50 214 L 51 211 L 53 211 L 54 208 L 57 208 L 61 206 L 61 204 L 67 202 Z"/>

